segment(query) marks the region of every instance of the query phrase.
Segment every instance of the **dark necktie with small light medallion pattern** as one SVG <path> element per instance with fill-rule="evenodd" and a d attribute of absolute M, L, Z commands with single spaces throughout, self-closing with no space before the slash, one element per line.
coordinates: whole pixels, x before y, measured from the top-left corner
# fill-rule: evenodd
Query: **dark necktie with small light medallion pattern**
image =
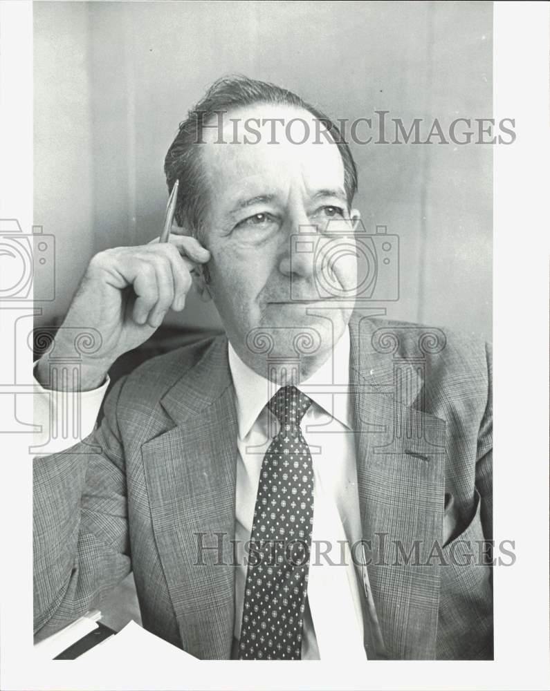
<path fill-rule="evenodd" d="M 239 659 L 300 660 L 313 528 L 313 464 L 300 421 L 311 399 L 284 386 L 267 405 L 281 426 L 260 471 Z"/>

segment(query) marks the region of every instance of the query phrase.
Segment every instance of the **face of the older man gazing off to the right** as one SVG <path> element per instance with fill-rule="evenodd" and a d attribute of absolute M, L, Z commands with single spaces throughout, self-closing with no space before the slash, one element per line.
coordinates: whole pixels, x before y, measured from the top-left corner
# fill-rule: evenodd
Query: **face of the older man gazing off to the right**
<path fill-rule="evenodd" d="M 309 334 L 318 345 L 309 361 L 320 364 L 345 330 L 353 308 L 349 299 L 345 304 L 335 299 L 356 285 L 357 274 L 356 257 L 349 252 L 353 223 L 345 219 L 358 218 L 358 212 L 347 207 L 338 146 L 324 135 L 316 136 L 313 116 L 295 108 L 258 105 L 226 117 L 239 120 L 240 142 L 247 118 L 278 117 L 288 122 L 302 117 L 309 122 L 311 135 L 303 144 L 293 144 L 278 124 L 277 143 L 269 144 L 272 125 L 266 124 L 259 127 L 260 142 L 236 144 L 230 143 L 235 131 L 229 122 L 226 143 L 215 143 L 215 130 L 205 135 L 207 144 L 201 153 L 210 187 L 204 240 L 212 253 L 210 293 L 233 347 L 255 370 L 262 368 L 259 363 L 266 357 L 259 358 L 253 345 L 258 330 L 273 339 L 271 357 L 292 357 L 298 334 Z M 254 126 L 258 127 L 257 121 Z M 295 123 L 289 132 L 291 139 L 300 140 L 304 127 Z M 255 140 L 250 134 L 248 139 Z M 308 225 L 313 226 L 308 229 L 313 237 L 304 238 L 306 242 L 298 246 L 301 251 L 295 252 L 292 237 L 300 226 Z M 335 251 L 335 240 L 327 234 L 335 225 L 347 251 Z M 331 252 L 329 261 L 323 262 L 322 247 L 327 243 Z M 328 280 L 320 283 L 321 272 Z M 307 370 L 302 366 L 302 375 Z"/>

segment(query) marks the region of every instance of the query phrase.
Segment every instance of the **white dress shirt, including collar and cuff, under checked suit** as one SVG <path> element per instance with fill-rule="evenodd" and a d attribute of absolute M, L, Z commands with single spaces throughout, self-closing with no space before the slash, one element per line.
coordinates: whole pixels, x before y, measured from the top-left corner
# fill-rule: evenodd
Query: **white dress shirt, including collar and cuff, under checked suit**
<path fill-rule="evenodd" d="M 245 543 L 250 540 L 259 474 L 266 450 L 279 423 L 266 408 L 279 387 L 251 370 L 229 345 L 229 365 L 235 385 L 238 424 L 235 540 L 238 564 L 235 578 L 235 639 L 239 640 L 247 565 Z M 313 531 L 308 580 L 308 605 L 304 614 L 302 659 L 365 659 L 361 575 L 349 545 L 361 539 L 357 491 L 356 450 L 351 424 L 350 399 L 334 394 L 331 385 L 349 384 L 349 331 L 333 353 L 306 381 L 297 385 L 313 401 L 300 427 L 311 449 L 313 474 Z M 99 388 L 83 392 L 80 402 L 80 438 L 95 425 L 109 378 Z M 35 380 L 35 446 L 48 439 L 48 420 L 64 410 L 64 395 L 52 396 Z M 50 407 L 53 415 L 50 417 Z M 40 441 L 42 437 L 42 442 Z M 75 439 L 48 442 L 44 453 L 63 451 Z M 360 568 L 360 567 L 359 567 Z"/>

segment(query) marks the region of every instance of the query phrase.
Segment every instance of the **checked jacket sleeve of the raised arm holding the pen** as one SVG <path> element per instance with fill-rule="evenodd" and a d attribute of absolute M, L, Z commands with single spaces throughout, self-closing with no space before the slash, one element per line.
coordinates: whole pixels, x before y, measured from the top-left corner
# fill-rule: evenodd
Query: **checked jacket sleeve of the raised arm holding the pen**
<path fill-rule="evenodd" d="M 125 458 L 117 405 L 100 427 L 33 464 L 34 631 L 42 640 L 84 614 L 131 571 Z"/>

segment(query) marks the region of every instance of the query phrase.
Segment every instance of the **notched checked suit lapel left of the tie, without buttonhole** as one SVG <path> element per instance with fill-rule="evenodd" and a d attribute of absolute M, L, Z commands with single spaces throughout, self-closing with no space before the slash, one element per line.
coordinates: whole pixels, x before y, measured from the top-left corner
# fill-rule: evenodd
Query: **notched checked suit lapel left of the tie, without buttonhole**
<path fill-rule="evenodd" d="M 237 420 L 226 341 L 214 341 L 161 402 L 176 427 L 142 447 L 158 552 L 183 647 L 228 659 Z"/>

